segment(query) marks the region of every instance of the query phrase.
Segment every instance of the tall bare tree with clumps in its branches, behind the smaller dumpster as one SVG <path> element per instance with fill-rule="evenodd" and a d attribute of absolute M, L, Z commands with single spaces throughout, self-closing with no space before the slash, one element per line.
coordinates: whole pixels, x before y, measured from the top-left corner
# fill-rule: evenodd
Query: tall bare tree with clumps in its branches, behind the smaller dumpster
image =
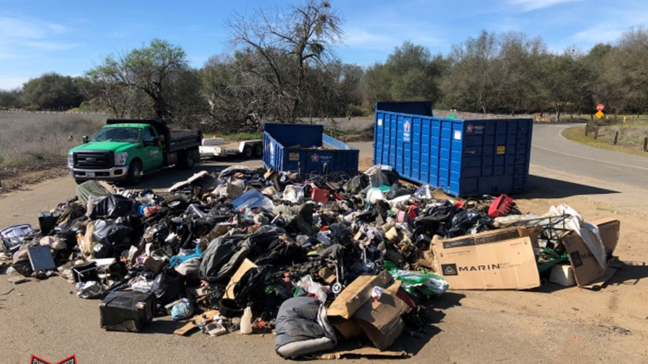
<path fill-rule="evenodd" d="M 304 0 L 287 12 L 260 9 L 250 17 L 234 14 L 226 25 L 231 43 L 259 55 L 262 67 L 271 72 L 260 72 L 253 63 L 246 71 L 270 85 L 275 101 L 284 104 L 275 107 L 286 109 L 284 116 L 296 120 L 307 71 L 325 67 L 334 58 L 331 46 L 341 41 L 342 21 L 329 1 Z"/>

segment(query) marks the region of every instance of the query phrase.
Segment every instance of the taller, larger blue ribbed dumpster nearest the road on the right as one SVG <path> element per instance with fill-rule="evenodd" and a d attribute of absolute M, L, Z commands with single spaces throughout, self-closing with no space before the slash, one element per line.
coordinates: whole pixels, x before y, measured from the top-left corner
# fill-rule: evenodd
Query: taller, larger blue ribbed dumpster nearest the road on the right
<path fill-rule="evenodd" d="M 376 165 L 454 196 L 526 191 L 532 119 L 445 119 L 429 105 L 376 103 Z"/>

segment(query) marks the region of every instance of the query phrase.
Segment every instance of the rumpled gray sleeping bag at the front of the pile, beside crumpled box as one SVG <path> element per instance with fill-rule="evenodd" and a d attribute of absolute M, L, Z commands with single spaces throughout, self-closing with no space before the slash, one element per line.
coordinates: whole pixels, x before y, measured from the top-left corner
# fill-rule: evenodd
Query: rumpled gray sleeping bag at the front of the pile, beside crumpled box
<path fill-rule="evenodd" d="M 284 301 L 275 328 L 275 351 L 284 358 L 330 350 L 337 343 L 326 308 L 312 297 Z"/>

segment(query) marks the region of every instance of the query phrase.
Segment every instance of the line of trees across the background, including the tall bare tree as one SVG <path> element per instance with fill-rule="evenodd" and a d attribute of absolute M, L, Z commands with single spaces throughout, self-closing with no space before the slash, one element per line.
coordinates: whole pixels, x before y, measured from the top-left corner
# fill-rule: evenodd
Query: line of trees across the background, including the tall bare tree
<path fill-rule="evenodd" d="M 648 32 L 632 28 L 589 51 L 550 52 L 541 38 L 483 30 L 448 54 L 406 41 L 368 67 L 334 54 L 343 17 L 329 1 L 233 14 L 233 51 L 200 68 L 179 45 L 154 39 L 111 54 L 84 76 L 43 74 L 0 91 L 0 108 L 107 110 L 206 131 L 256 129 L 263 121 L 368 115 L 378 101 L 429 100 L 480 113 L 642 113 L 648 104 Z"/>

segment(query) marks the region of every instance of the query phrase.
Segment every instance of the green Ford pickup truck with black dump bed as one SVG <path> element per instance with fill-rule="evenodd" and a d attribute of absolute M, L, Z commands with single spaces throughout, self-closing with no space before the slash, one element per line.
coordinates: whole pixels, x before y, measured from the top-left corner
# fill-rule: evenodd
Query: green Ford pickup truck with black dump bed
<path fill-rule="evenodd" d="M 164 166 L 190 169 L 200 161 L 199 130 L 170 130 L 161 120 L 107 120 L 91 141 L 67 154 L 76 183 L 89 179 L 136 184 Z"/>

